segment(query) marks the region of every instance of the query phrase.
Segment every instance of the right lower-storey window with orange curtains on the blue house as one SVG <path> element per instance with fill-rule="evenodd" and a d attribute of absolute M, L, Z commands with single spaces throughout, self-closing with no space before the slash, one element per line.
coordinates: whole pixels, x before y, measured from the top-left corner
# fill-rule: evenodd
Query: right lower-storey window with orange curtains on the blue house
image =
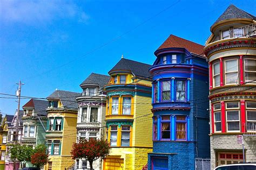
<path fill-rule="evenodd" d="M 186 116 L 176 116 L 176 139 L 186 140 Z"/>

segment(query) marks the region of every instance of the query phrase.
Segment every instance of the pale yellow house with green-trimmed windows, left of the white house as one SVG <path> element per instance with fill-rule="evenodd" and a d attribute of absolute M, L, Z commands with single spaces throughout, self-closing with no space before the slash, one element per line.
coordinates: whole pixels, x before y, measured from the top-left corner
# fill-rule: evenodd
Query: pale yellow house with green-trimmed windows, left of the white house
<path fill-rule="evenodd" d="M 49 162 L 45 169 L 65 169 L 75 161 L 71 159 L 72 144 L 76 143 L 77 102 L 79 93 L 56 90 L 49 97 L 46 145 Z"/>

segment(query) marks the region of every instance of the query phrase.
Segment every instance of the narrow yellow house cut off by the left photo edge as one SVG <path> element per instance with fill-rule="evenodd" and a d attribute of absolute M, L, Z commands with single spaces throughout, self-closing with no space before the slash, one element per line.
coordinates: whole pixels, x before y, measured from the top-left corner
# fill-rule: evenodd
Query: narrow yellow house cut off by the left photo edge
<path fill-rule="evenodd" d="M 4 169 L 5 165 L 5 155 L 6 155 L 6 143 L 8 134 L 8 124 L 11 123 L 13 115 L 5 115 L 0 126 L 0 147 L 1 147 L 1 160 L 0 160 L 0 170 Z"/>

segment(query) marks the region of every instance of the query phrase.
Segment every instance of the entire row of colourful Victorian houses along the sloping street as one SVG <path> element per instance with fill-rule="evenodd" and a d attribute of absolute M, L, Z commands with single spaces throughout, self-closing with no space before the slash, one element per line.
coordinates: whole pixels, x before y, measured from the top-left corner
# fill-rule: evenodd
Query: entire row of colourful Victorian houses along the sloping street
<path fill-rule="evenodd" d="M 19 120 L 17 111 L 3 118 L 0 169 L 14 169 L 6 144 L 15 138 L 47 146 L 44 169 L 89 168 L 71 159 L 80 138 L 110 144 L 110 155 L 93 162 L 97 170 L 195 169 L 197 158 L 211 158 L 211 169 L 255 162 L 255 28 L 253 15 L 230 5 L 206 46 L 171 35 L 153 65 L 122 57 L 109 75 L 91 73 L 82 93 L 32 98 Z"/>

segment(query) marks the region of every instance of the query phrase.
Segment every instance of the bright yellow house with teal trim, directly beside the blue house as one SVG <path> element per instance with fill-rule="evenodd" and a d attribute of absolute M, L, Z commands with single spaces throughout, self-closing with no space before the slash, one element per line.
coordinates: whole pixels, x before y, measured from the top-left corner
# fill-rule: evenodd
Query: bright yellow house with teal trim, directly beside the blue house
<path fill-rule="evenodd" d="M 151 65 L 122 58 L 106 84 L 106 140 L 111 153 L 103 169 L 142 169 L 152 152 Z"/>

